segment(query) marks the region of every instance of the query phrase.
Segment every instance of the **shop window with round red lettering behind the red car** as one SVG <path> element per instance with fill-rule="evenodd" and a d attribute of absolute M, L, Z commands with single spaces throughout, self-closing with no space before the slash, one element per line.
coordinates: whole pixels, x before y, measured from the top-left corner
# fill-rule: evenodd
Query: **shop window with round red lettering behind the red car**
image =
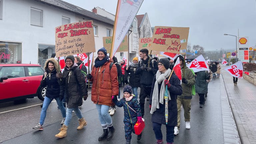
<path fill-rule="evenodd" d="M 0 63 L 13 64 L 21 61 L 21 43 L 0 41 Z"/>

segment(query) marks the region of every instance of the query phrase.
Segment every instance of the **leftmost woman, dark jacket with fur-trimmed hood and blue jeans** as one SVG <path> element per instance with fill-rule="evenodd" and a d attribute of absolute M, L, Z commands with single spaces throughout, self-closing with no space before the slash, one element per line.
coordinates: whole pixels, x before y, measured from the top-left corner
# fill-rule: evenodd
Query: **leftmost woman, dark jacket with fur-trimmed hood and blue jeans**
<path fill-rule="evenodd" d="M 33 127 L 36 130 L 43 130 L 43 124 L 46 117 L 46 110 L 53 99 L 56 100 L 60 111 L 62 113 L 62 121 L 61 125 L 64 124 L 66 118 L 66 110 L 63 106 L 63 92 L 60 92 L 60 85 L 58 83 L 58 76 L 60 73 L 60 68 L 58 62 L 54 58 L 50 58 L 45 62 L 44 66 L 45 72 L 41 80 L 41 87 L 47 86 L 41 115 L 40 115 L 40 122 L 37 126 Z"/>

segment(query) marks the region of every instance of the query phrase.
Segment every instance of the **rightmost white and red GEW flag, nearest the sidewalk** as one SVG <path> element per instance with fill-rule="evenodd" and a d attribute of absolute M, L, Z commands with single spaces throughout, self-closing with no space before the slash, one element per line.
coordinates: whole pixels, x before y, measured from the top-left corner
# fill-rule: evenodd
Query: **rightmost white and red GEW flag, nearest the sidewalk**
<path fill-rule="evenodd" d="M 225 70 L 233 77 L 243 78 L 243 63 L 239 61 L 225 68 Z"/>

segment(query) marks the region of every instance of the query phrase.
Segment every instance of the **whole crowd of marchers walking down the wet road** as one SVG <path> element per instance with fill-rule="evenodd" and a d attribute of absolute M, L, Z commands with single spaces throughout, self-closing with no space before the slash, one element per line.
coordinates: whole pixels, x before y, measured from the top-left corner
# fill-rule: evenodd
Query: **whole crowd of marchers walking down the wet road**
<path fill-rule="evenodd" d="M 131 133 L 135 133 L 136 123 L 143 122 L 145 114 L 145 99 L 149 97 L 149 109 L 152 115 L 152 129 L 155 133 L 156 143 L 163 144 L 161 126 L 166 126 L 166 142 L 173 144 L 174 136 L 179 134 L 181 122 L 181 106 L 184 109 L 184 124 L 190 129 L 191 99 L 195 93 L 199 95 L 199 107 L 203 108 L 208 92 L 208 82 L 211 79 L 211 67 L 208 71 L 193 70 L 186 66 L 183 56 L 175 60 L 170 58 L 151 58 L 147 49 L 139 51 L 140 61 L 133 58 L 129 66 L 123 60 L 118 64 L 117 58 L 110 58 L 103 47 L 98 50 L 98 56 L 90 74 L 86 75 L 86 67 L 79 58 L 69 55 L 65 59 L 65 69 L 61 73 L 58 62 L 54 58 L 46 61 L 41 86 L 47 86 L 45 99 L 42 105 L 40 120 L 36 130 L 43 130 L 46 111 L 53 99 L 62 113 L 61 129 L 57 138 L 67 136 L 72 112 L 78 117 L 77 130 L 87 125 L 79 106 L 88 97 L 86 79 L 92 82 L 91 101 L 98 111 L 99 122 L 103 129 L 98 140 L 111 140 L 114 136 L 114 115 L 117 107 L 124 109 L 124 130 L 126 144 L 131 143 Z M 174 63 L 179 59 L 181 67 L 180 80 L 172 72 Z M 189 63 L 190 61 L 187 61 Z M 217 67 L 216 67 L 217 71 Z M 216 72 L 215 71 L 215 72 Z M 129 74 L 129 82 L 127 74 Z M 129 83 L 129 85 L 125 85 Z M 123 89 L 121 89 L 123 87 Z M 138 95 L 138 88 L 140 94 Z M 120 94 L 120 90 L 123 94 Z M 139 99 L 139 101 L 138 101 Z M 63 105 L 63 101 L 66 103 Z M 67 107 L 65 109 L 65 106 Z M 119 129 L 119 128 L 118 128 Z M 142 133 L 137 135 L 137 140 L 142 138 Z"/>

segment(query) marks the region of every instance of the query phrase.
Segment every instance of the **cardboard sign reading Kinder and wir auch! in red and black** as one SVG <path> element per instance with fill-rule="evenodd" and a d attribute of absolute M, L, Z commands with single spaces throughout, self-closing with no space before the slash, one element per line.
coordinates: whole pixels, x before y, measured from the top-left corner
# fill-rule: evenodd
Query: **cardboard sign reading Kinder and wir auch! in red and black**
<path fill-rule="evenodd" d="M 155 26 L 150 50 L 180 54 L 187 49 L 189 27 Z"/>

